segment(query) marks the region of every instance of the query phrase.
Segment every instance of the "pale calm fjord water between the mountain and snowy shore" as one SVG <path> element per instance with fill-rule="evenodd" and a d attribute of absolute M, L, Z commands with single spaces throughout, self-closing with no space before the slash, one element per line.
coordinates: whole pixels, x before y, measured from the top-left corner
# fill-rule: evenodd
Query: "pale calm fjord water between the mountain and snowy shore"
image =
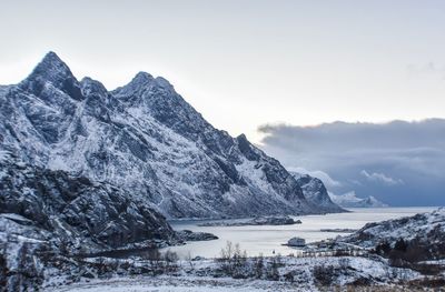
<path fill-rule="evenodd" d="M 306 242 L 315 242 L 345 235 L 348 233 L 322 232 L 322 229 L 360 229 L 366 223 L 378 222 L 402 217 L 411 217 L 417 213 L 431 212 L 437 208 L 372 208 L 349 209 L 349 213 L 334 213 L 325 215 L 295 217 L 301 220 L 301 224 L 294 225 L 256 225 L 256 226 L 198 226 L 200 223 L 214 222 L 210 220 L 195 221 L 170 221 L 175 230 L 191 230 L 210 232 L 217 235 L 218 240 L 188 242 L 186 245 L 168 248 L 179 256 L 190 254 L 192 258 L 199 255 L 205 258 L 219 256 L 220 250 L 227 241 L 239 243 L 241 250 L 246 250 L 249 256 L 297 253 L 298 250 L 281 245 L 293 236 L 299 236 Z M 236 221 L 236 220 L 224 220 Z"/>

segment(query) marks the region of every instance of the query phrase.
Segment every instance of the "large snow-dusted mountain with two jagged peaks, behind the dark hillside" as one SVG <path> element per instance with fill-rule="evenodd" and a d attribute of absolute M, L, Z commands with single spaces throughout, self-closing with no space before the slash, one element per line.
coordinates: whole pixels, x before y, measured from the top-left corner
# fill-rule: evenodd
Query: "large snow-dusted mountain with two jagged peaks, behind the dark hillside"
<path fill-rule="evenodd" d="M 78 81 L 49 52 L 17 85 L 0 88 L 0 149 L 42 169 L 126 190 L 169 218 L 306 214 L 333 209 L 306 200 L 281 164 L 245 135 L 209 124 L 162 78 L 138 73 L 108 91 Z"/>

